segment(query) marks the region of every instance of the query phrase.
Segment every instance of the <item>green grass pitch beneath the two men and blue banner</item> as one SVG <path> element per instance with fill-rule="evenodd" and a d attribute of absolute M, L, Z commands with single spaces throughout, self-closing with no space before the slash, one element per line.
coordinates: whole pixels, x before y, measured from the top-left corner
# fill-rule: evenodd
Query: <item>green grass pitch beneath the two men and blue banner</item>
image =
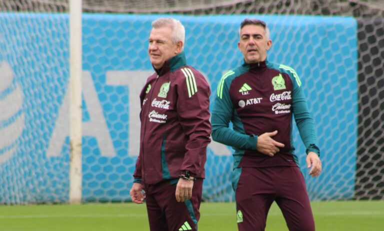
<path fill-rule="evenodd" d="M 316 231 L 384 231 L 384 201 L 312 202 Z M 234 203 L 202 203 L 199 231 L 236 231 Z M 145 205 L 0 206 L 0 231 L 148 231 Z M 278 207 L 266 231 L 286 231 Z"/>

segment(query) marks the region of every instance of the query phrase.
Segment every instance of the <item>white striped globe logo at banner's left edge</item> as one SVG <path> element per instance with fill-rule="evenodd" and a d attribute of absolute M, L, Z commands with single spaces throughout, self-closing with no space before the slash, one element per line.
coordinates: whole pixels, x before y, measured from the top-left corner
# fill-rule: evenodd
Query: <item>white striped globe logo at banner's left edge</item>
<path fill-rule="evenodd" d="M 13 82 L 14 72 L 7 62 L 0 62 L 0 164 L 15 153 L 24 129 L 23 93 Z"/>

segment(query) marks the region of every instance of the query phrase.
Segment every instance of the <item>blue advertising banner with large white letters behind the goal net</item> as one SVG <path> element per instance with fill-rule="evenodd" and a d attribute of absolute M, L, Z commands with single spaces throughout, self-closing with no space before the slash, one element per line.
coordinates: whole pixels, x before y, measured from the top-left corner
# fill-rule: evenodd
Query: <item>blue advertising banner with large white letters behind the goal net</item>
<path fill-rule="evenodd" d="M 151 21 L 168 15 L 83 15 L 82 200 L 129 201 L 139 147 L 138 94 L 153 73 Z M 185 26 L 187 63 L 207 78 L 242 63 L 242 19 L 271 31 L 268 60 L 294 68 L 307 96 L 323 172 L 312 179 L 294 144 L 312 200 L 353 197 L 357 131 L 356 21 L 351 17 L 172 15 Z M 0 203 L 65 202 L 69 192 L 67 14 L 0 13 Z M 233 201 L 232 150 L 208 146 L 205 201 Z"/>

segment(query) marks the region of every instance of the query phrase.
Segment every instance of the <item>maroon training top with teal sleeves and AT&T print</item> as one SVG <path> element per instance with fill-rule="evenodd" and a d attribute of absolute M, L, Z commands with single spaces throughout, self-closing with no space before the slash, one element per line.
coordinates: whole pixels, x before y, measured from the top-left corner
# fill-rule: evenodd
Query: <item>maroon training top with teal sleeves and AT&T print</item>
<path fill-rule="evenodd" d="M 319 154 L 313 119 L 300 85 L 293 69 L 267 60 L 244 62 L 222 76 L 212 110 L 212 139 L 233 147 L 234 168 L 298 166 L 292 115 L 306 152 Z M 257 136 L 274 130 L 278 133 L 272 139 L 285 147 L 269 157 L 256 150 Z"/>

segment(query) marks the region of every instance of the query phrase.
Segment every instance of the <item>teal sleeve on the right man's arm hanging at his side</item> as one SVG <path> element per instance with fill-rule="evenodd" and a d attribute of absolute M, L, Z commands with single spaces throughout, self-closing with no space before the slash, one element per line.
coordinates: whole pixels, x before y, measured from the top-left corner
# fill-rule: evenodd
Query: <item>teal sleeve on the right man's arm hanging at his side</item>
<path fill-rule="evenodd" d="M 287 73 L 293 84 L 292 92 L 292 111 L 301 140 L 306 148 L 306 154 L 314 152 L 320 155 L 320 150 L 316 144 L 316 132 L 313 119 L 309 113 L 306 98 L 301 88 L 301 81 L 294 69 L 280 65 L 280 70 Z"/>

